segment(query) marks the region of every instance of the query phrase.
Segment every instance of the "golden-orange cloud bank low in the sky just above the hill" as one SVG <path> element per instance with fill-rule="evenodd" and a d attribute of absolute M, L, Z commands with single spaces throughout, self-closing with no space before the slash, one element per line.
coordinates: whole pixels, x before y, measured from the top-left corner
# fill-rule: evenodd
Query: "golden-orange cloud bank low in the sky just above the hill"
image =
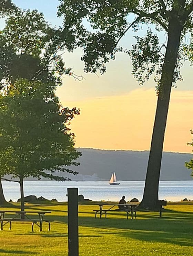
<path fill-rule="evenodd" d="M 81 115 L 71 124 L 76 135 L 75 146 L 149 150 L 156 101 L 153 89 L 141 88 L 126 95 L 65 102 L 65 106 L 81 109 Z M 192 151 L 193 148 L 186 145 L 192 140 L 192 103 L 192 91 L 173 89 L 165 132 L 165 151 Z"/>

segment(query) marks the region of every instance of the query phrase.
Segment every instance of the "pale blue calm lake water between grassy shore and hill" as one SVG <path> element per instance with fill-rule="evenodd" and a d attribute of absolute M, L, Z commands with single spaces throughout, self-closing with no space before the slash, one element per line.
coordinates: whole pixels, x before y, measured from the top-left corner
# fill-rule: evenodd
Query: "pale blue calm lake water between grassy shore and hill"
<path fill-rule="evenodd" d="M 25 181 L 24 195 L 43 196 L 51 200 L 67 201 L 67 188 L 78 188 L 84 199 L 93 201 L 118 201 L 125 195 L 126 201 L 136 197 L 142 200 L 144 181 L 120 181 L 120 185 L 109 185 L 107 181 Z M 19 184 L 3 181 L 3 191 L 6 200 L 17 201 L 20 198 Z M 159 199 L 181 201 L 187 198 L 193 200 L 193 181 L 160 181 Z"/>

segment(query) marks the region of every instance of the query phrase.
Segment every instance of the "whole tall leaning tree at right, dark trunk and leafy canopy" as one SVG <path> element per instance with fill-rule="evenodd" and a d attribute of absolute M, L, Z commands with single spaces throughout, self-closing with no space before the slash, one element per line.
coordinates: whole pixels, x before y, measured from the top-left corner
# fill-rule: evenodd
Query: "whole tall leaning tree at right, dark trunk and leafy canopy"
<path fill-rule="evenodd" d="M 85 71 L 101 74 L 116 52 L 131 56 L 133 75 L 143 84 L 153 74 L 158 94 L 148 168 L 141 208 L 159 208 L 160 167 L 167 113 L 172 86 L 181 79 L 182 60 L 193 59 L 193 0 L 59 0 L 59 16 L 64 17 L 64 32 L 69 35 L 69 50 L 82 46 Z M 128 22 L 128 17 L 133 18 Z M 91 29 L 84 26 L 90 23 Z M 143 26 L 143 25 L 147 26 Z M 132 28 L 147 28 L 144 37 L 136 36 L 131 49 L 119 47 L 121 38 Z M 158 34 L 167 35 L 160 44 Z M 190 44 L 186 36 L 190 35 Z"/>

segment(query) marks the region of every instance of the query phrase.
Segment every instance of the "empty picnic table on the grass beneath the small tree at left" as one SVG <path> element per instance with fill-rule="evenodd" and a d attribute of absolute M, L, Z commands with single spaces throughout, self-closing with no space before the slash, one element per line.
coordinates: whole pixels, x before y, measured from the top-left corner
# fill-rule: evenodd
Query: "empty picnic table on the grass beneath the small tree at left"
<path fill-rule="evenodd" d="M 12 217 L 5 217 L 6 214 L 14 214 Z M 38 219 L 32 219 L 31 216 L 28 214 L 35 213 L 38 214 Z M 46 213 L 51 213 L 50 211 L 8 211 L 8 210 L 1 210 L 0 211 L 0 230 L 3 230 L 3 226 L 6 224 L 10 224 L 9 229 L 11 229 L 11 222 L 13 221 L 20 221 L 20 222 L 32 222 L 32 232 L 33 232 L 33 226 L 34 224 L 37 225 L 40 228 L 40 231 L 42 231 L 42 224 L 43 222 L 48 223 L 48 231 L 50 231 L 50 221 L 52 220 L 45 220 L 44 215 Z M 21 216 L 24 216 L 24 218 L 21 218 Z M 20 217 L 20 218 L 18 218 Z"/>

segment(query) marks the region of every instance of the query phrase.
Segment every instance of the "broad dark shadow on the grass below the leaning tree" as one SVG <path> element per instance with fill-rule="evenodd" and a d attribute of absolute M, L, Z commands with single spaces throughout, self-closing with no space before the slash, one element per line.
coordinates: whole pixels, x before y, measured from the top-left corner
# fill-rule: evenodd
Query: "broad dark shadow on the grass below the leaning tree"
<path fill-rule="evenodd" d="M 119 216 L 121 213 L 116 213 L 116 215 Z M 97 232 L 99 236 L 109 234 L 148 242 L 193 246 L 191 239 L 193 233 L 193 214 L 183 214 L 173 211 L 167 213 L 165 217 L 159 218 L 157 212 L 154 214 L 142 212 L 133 220 L 127 220 L 126 217 L 117 218 L 115 217 L 116 215 L 114 214 L 113 218 L 111 216 L 111 218 L 106 219 L 95 219 L 92 216 L 79 216 L 79 226 L 98 228 L 100 230 L 95 230 L 95 232 Z M 53 216 L 49 216 L 49 218 L 51 217 L 53 218 Z M 58 223 L 68 223 L 67 216 L 54 216 L 54 218 Z M 50 235 L 47 234 L 46 236 L 49 237 Z"/>

